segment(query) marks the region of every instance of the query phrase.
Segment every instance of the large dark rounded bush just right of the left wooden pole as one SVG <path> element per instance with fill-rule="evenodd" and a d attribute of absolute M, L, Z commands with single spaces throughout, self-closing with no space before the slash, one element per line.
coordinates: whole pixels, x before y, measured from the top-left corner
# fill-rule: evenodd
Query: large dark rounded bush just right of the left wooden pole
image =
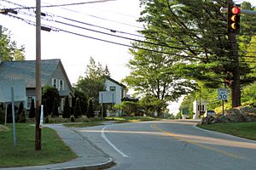
<path fill-rule="evenodd" d="M 54 107 L 55 105 L 59 105 L 59 102 L 60 96 L 58 90 L 51 86 L 44 86 L 42 93 L 42 104 L 45 109 L 44 116 L 58 116 L 58 113 L 55 112 L 56 115 L 54 114 Z"/>

